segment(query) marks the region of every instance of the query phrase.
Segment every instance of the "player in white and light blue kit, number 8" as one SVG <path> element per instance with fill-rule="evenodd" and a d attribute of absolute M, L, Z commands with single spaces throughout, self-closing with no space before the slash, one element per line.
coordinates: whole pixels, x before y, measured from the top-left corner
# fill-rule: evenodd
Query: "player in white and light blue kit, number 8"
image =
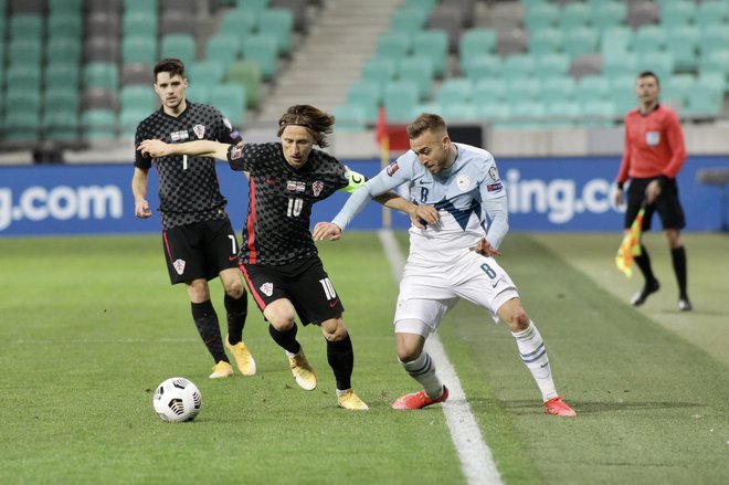
<path fill-rule="evenodd" d="M 419 204 L 420 229 L 410 228 L 410 255 L 400 282 L 394 315 L 398 358 L 423 386 L 400 397 L 393 409 L 421 409 L 448 398 L 435 365 L 424 351 L 425 339 L 459 298 L 489 310 L 516 338 L 521 360 L 531 372 L 549 414 L 573 417 L 554 388 L 545 342 L 521 306 L 516 285 L 494 260 L 508 231 L 506 189 L 494 157 L 448 137 L 443 118 L 422 114 L 408 125 L 406 154 L 356 190 L 331 222 L 319 222 L 317 241 L 338 240 L 364 204 L 406 183 Z M 485 215 L 490 224 L 487 226 Z"/>

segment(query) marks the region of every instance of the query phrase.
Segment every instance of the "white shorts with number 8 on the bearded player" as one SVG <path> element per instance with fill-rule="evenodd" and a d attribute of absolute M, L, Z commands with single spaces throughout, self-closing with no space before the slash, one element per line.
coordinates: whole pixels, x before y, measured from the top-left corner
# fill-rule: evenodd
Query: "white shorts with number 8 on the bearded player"
<path fill-rule="evenodd" d="M 486 308 L 498 323 L 498 309 L 519 296 L 516 285 L 493 257 L 468 251 L 447 266 L 408 263 L 400 281 L 395 331 L 435 331 L 459 298 Z M 416 321 L 422 321 L 422 328 Z"/>

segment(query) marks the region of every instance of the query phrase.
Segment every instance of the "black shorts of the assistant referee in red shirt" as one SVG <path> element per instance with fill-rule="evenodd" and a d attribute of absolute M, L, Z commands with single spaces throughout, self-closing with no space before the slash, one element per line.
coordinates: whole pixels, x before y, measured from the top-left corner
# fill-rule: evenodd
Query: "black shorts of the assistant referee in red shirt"
<path fill-rule="evenodd" d="M 625 211 L 625 229 L 630 229 L 641 210 L 641 204 L 645 199 L 645 188 L 648 183 L 655 180 L 649 179 L 631 179 L 631 184 L 627 188 L 627 210 Z M 684 217 L 684 209 L 678 200 L 678 186 L 676 179 L 667 179 L 662 188 L 661 196 L 651 204 L 645 208 L 645 215 L 643 217 L 643 230 L 651 229 L 651 220 L 653 213 L 657 211 L 661 217 L 663 229 L 684 229 L 686 226 L 686 218 Z"/>

